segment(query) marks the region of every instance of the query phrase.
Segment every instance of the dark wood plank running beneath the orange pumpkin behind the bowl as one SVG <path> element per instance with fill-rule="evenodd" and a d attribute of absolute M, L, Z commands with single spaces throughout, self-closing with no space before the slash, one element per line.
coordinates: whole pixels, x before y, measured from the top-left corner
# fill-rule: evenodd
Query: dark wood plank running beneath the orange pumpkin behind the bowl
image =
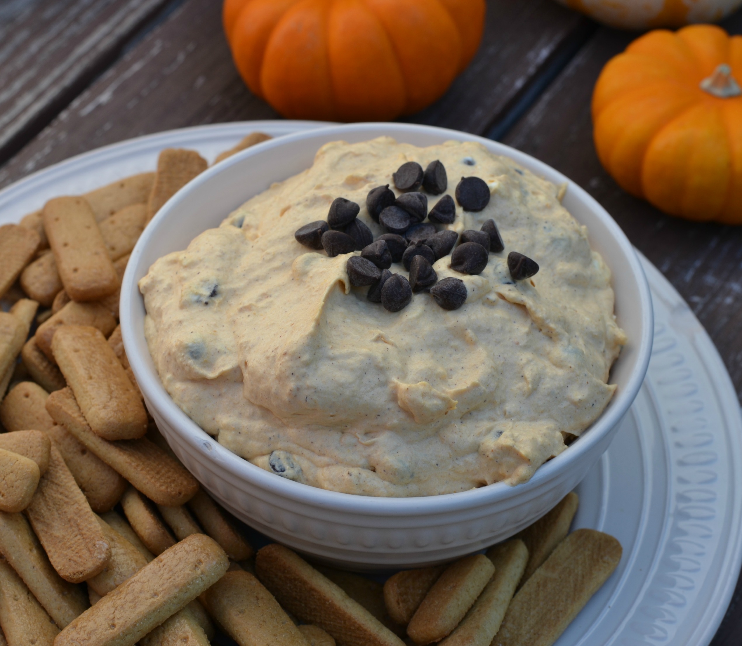
<path fill-rule="evenodd" d="M 132 136 L 278 117 L 237 75 L 220 5 L 219 0 L 183 4 L 1 168 L 0 185 Z M 587 24 L 553 0 L 491 1 L 473 64 L 446 96 L 413 120 L 485 133 L 565 43 L 583 37 Z"/>

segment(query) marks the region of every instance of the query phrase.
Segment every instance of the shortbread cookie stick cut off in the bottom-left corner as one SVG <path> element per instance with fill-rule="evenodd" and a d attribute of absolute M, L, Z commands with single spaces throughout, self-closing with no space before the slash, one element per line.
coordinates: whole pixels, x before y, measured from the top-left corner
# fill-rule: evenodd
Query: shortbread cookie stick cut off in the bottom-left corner
<path fill-rule="evenodd" d="M 52 646 L 59 635 L 59 628 L 4 558 L 0 559 L 0 626 L 10 646 Z"/>

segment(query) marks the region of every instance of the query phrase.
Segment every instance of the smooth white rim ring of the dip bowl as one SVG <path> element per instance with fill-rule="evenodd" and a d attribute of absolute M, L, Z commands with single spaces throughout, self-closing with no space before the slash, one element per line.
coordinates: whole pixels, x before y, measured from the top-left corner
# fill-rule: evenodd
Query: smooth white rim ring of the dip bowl
<path fill-rule="evenodd" d="M 255 464 L 241 458 L 236 453 L 229 451 L 229 449 L 226 449 L 226 447 L 219 444 L 211 435 L 201 429 L 197 423 L 191 420 L 177 406 L 168 392 L 165 391 L 165 387 L 162 385 L 156 369 L 154 369 L 154 363 L 151 360 L 146 343 L 143 349 L 146 357 L 142 357 L 139 353 L 139 346 L 134 335 L 133 320 L 135 316 L 134 301 L 136 299 L 142 299 L 136 278 L 139 271 L 139 264 L 142 262 L 144 249 L 148 246 L 150 240 L 160 231 L 160 228 L 166 228 L 167 220 L 177 211 L 180 203 L 187 200 L 188 195 L 192 191 L 199 190 L 202 185 L 207 184 L 212 177 L 220 174 L 226 168 L 241 163 L 245 159 L 260 156 L 264 151 L 272 148 L 290 148 L 295 142 L 308 138 L 322 138 L 326 142 L 337 141 L 344 138 L 344 133 L 352 133 L 359 130 L 368 131 L 368 139 L 384 135 L 400 139 L 400 137 L 403 138 L 404 135 L 414 132 L 422 135 L 431 134 L 436 137 L 446 136 L 447 139 L 458 141 L 479 142 L 485 145 L 487 150 L 494 154 L 510 157 L 510 159 L 528 168 L 539 177 L 545 177 L 557 184 L 566 182 L 568 184 L 568 192 L 578 201 L 583 202 L 588 209 L 593 211 L 603 221 L 603 224 L 611 234 L 612 240 L 623 252 L 631 266 L 632 273 L 637 281 L 639 291 L 639 303 L 637 305 L 639 306 L 640 318 L 642 320 L 642 334 L 636 344 L 637 359 L 634 370 L 629 375 L 626 386 L 623 386 L 617 392 L 616 397 L 611 401 L 608 408 L 580 435 L 577 441 L 574 441 L 569 446 L 569 450 L 565 450 L 555 458 L 542 464 L 541 467 L 536 469 L 536 472 L 528 482 L 516 485 L 515 487 L 511 487 L 504 482 L 496 482 L 486 487 L 479 487 L 463 492 L 406 498 L 387 498 L 324 490 L 287 480 L 286 478 L 281 478 L 278 475 L 267 472 L 265 469 L 261 469 Z M 148 271 L 148 268 L 146 268 L 146 271 Z M 579 461 L 583 455 L 591 452 L 592 447 L 603 440 L 605 435 L 617 426 L 623 415 L 626 414 L 634 398 L 636 398 L 646 375 L 651 357 L 654 330 L 654 313 L 651 306 L 649 283 L 639 258 L 634 251 L 634 247 L 620 226 L 608 214 L 608 211 L 605 211 L 605 208 L 591 197 L 587 191 L 556 169 L 545 164 L 545 162 L 541 162 L 531 155 L 518 151 L 515 148 L 510 148 L 510 146 L 493 141 L 492 139 L 485 139 L 481 136 L 447 128 L 438 128 L 436 126 L 387 122 L 328 125 L 325 128 L 312 128 L 312 130 L 299 131 L 294 134 L 269 139 L 266 142 L 261 142 L 251 148 L 240 151 L 218 164 L 212 165 L 202 174 L 191 180 L 191 182 L 188 182 L 187 185 L 181 188 L 180 191 L 177 191 L 160 208 L 160 211 L 158 211 L 145 228 L 137 241 L 137 245 L 131 252 L 131 257 L 122 280 L 120 312 L 120 324 L 125 351 L 134 376 L 137 378 L 137 383 L 139 383 L 139 387 L 145 395 L 145 401 L 148 405 L 156 409 L 157 413 L 190 446 L 191 450 L 208 455 L 209 461 L 214 463 L 214 466 L 218 465 L 220 469 L 226 470 L 234 478 L 247 481 L 249 484 L 257 487 L 257 489 L 269 492 L 272 496 L 286 498 L 298 504 L 324 507 L 326 510 L 355 512 L 361 515 L 388 516 L 440 514 L 452 510 L 462 510 L 462 508 L 482 507 L 483 505 L 506 501 L 508 498 L 520 498 L 522 495 L 528 498 L 539 495 L 541 488 L 548 481 L 557 478 L 559 473 L 562 472 L 562 469 L 568 469 L 570 464 Z"/>

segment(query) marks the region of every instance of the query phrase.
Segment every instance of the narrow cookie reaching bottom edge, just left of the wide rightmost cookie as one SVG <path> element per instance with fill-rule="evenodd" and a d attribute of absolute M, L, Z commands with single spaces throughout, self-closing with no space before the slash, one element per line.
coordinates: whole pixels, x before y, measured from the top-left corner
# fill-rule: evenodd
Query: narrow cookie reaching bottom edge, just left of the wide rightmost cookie
<path fill-rule="evenodd" d="M 489 646 L 499 630 L 528 561 L 528 550 L 516 539 L 491 547 L 487 558 L 495 565 L 494 576 L 441 646 Z"/>

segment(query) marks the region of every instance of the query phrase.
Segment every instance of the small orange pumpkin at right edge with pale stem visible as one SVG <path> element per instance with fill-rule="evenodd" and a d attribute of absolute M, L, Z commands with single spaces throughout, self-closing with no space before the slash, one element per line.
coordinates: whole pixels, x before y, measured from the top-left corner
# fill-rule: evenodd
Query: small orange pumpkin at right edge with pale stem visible
<path fill-rule="evenodd" d="M 689 220 L 742 224 L 742 37 L 656 30 L 611 59 L 593 93 L 600 162 L 631 194 Z"/>

